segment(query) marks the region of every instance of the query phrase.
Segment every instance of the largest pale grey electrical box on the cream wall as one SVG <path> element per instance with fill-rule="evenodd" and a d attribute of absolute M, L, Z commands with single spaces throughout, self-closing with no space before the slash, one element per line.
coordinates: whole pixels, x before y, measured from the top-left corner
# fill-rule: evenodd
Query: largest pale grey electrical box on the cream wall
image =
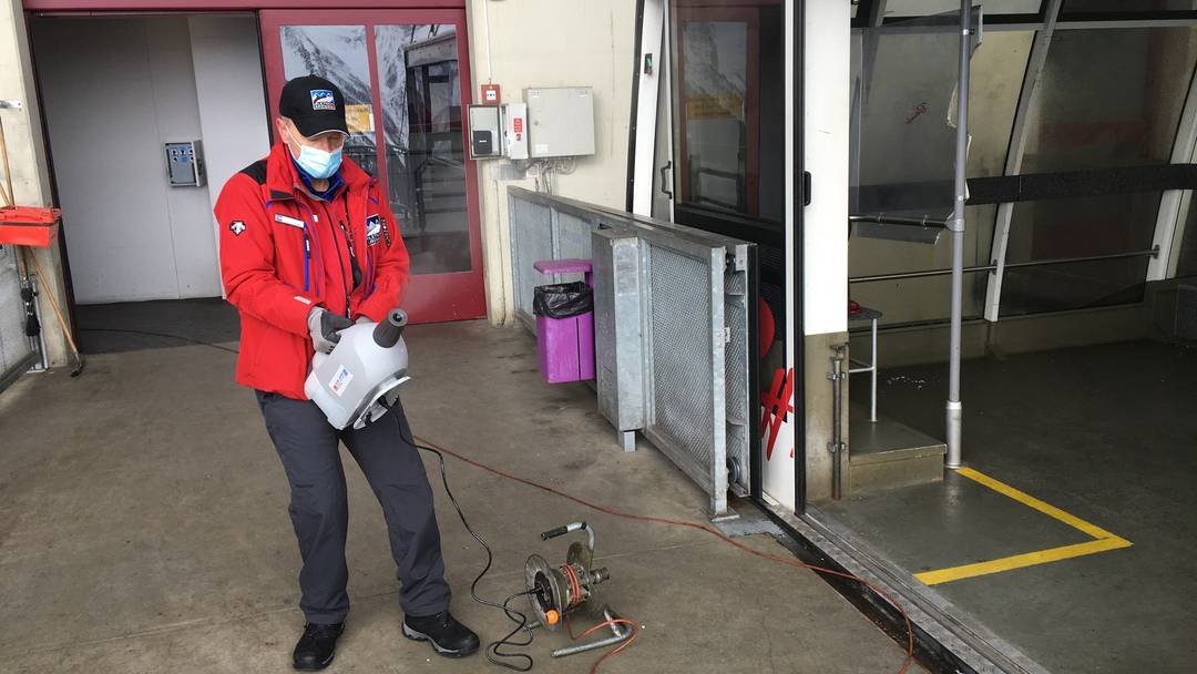
<path fill-rule="evenodd" d="M 589 86 L 525 89 L 529 156 L 584 157 L 595 153 L 595 104 Z"/>

